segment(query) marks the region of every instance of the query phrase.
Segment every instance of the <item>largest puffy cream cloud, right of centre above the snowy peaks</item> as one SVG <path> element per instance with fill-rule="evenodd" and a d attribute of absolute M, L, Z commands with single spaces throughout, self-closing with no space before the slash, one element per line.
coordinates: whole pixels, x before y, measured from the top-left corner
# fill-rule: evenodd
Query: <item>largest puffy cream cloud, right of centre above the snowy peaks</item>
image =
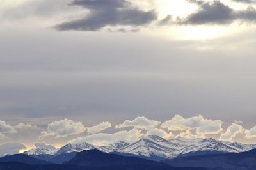
<path fill-rule="evenodd" d="M 209 120 L 203 116 L 183 118 L 175 115 L 171 120 L 165 121 L 161 128 L 167 128 L 169 131 L 195 130 L 197 135 L 219 134 L 222 128 L 221 120 Z"/>

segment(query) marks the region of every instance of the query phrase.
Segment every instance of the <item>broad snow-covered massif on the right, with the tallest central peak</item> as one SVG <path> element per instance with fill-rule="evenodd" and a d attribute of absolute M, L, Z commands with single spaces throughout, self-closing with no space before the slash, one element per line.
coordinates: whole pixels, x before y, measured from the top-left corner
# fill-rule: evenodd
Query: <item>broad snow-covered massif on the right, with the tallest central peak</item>
<path fill-rule="evenodd" d="M 189 155 L 203 155 L 211 153 L 239 153 L 256 148 L 255 144 L 230 143 L 215 139 L 186 139 L 177 137 L 166 140 L 157 135 L 150 135 L 136 143 L 132 143 L 121 150 L 120 153 L 131 153 L 140 157 L 160 160 L 163 158 L 176 158 Z"/>

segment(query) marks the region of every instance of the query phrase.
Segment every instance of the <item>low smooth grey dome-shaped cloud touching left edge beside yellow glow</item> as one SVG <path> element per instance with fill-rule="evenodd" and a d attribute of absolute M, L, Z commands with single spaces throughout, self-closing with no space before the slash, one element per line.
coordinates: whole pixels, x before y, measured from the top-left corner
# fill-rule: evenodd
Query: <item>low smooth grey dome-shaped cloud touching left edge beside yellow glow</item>
<path fill-rule="evenodd" d="M 0 146 L 0 155 L 17 154 L 20 150 L 26 149 L 22 143 L 6 143 Z"/>

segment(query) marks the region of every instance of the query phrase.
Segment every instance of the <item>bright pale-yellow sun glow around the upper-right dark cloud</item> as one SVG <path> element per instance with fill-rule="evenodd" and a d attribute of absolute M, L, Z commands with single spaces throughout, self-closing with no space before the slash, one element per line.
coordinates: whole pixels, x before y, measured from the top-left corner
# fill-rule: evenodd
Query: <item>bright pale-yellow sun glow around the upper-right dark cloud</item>
<path fill-rule="evenodd" d="M 229 4 L 236 10 L 244 10 L 246 5 L 241 3 L 232 3 L 230 0 L 223 0 L 222 3 Z M 188 3 L 186 0 L 159 0 L 155 4 L 159 11 L 159 19 L 164 19 L 167 15 L 172 15 L 175 20 L 177 17 L 186 17 L 189 14 L 195 12 L 198 6 Z M 237 29 L 239 26 L 239 29 Z M 231 25 L 200 25 L 191 26 L 184 25 L 178 26 L 175 23 L 169 24 L 163 27 L 157 27 L 161 31 L 154 31 L 154 35 L 162 36 L 165 39 L 172 40 L 212 40 L 223 36 L 232 35 L 237 32 L 244 31 L 248 26 L 242 26 L 240 23 L 234 23 Z"/>

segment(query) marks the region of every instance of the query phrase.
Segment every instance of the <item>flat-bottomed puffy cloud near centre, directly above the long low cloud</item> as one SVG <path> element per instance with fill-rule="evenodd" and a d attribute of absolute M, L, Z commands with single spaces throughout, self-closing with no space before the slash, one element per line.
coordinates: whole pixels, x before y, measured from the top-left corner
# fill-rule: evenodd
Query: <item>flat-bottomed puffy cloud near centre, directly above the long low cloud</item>
<path fill-rule="evenodd" d="M 159 125 L 159 121 L 148 120 L 145 117 L 138 117 L 134 120 L 125 120 L 124 123 L 116 125 L 115 128 L 126 128 L 126 127 L 134 127 L 140 130 L 150 130 Z"/>

